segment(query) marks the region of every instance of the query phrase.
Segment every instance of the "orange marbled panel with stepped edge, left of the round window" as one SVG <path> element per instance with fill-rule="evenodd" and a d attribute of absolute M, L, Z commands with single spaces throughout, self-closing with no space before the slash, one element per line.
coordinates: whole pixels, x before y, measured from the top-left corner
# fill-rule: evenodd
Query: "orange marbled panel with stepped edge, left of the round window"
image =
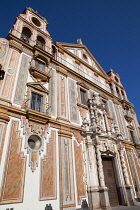
<path fill-rule="evenodd" d="M 12 121 L 7 160 L 5 164 L 1 203 L 18 203 L 23 199 L 26 158 L 21 152 L 22 138 L 18 121 Z"/>

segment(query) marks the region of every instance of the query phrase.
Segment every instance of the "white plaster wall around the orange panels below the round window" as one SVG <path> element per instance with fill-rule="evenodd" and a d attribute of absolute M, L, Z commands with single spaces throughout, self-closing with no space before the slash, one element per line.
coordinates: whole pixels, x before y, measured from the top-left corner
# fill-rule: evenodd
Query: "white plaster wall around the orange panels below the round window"
<path fill-rule="evenodd" d="M 14 120 L 18 120 L 16 118 L 12 118 Z M 4 152 L 2 156 L 2 166 L 0 168 L 0 182 L 2 180 L 2 172 L 4 169 L 4 163 L 5 158 L 7 154 L 7 145 L 9 140 L 9 134 L 10 134 L 10 124 L 7 129 L 6 134 L 6 141 L 5 141 L 5 147 Z M 58 136 L 56 135 L 56 193 L 57 198 L 55 200 L 45 200 L 45 201 L 39 201 L 39 189 L 40 189 L 40 159 L 44 156 L 46 151 L 46 144 L 44 144 L 44 151 L 42 151 L 41 156 L 39 156 L 39 164 L 36 168 L 35 172 L 31 171 L 31 168 L 29 167 L 29 154 L 27 154 L 27 150 L 24 149 L 25 147 L 25 135 L 23 135 L 23 128 L 21 128 L 21 122 L 19 124 L 19 130 L 20 136 L 23 137 L 22 142 L 22 151 L 24 152 L 24 155 L 27 157 L 26 161 L 26 173 L 25 173 L 25 183 L 24 183 L 24 194 L 23 194 L 23 203 L 15 203 L 15 204 L 4 204 L 0 205 L 0 210 L 6 210 L 7 208 L 14 208 L 14 210 L 39 210 L 39 209 L 45 209 L 46 204 L 51 204 L 54 210 L 59 210 L 59 154 L 58 154 Z M 56 129 L 53 129 L 57 131 Z M 49 134 L 47 134 L 46 142 L 49 139 Z"/>

